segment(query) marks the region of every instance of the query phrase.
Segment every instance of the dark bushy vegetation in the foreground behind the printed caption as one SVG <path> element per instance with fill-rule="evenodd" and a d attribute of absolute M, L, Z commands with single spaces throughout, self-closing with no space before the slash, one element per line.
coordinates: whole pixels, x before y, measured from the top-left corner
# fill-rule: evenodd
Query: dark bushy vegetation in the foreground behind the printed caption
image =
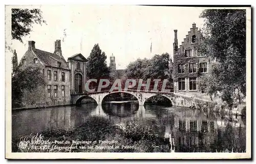
<path fill-rule="evenodd" d="M 49 140 L 48 144 L 50 150 L 31 150 L 31 149 L 18 149 L 18 144 L 21 140 Z M 93 149 L 68 149 L 58 150 L 54 149 L 57 146 L 76 146 L 70 144 L 54 144 L 55 140 L 83 140 L 95 141 L 97 143 L 90 144 Z M 118 143 L 106 144 L 99 143 L 99 140 L 114 140 Z M 78 145 L 87 146 L 86 144 Z M 113 149 L 96 149 L 95 146 L 113 146 Z M 119 146 L 119 148 L 117 148 Z M 130 148 L 122 148 L 122 146 Z M 159 137 L 154 133 L 153 129 L 148 126 L 143 126 L 138 122 L 126 124 L 124 127 L 112 125 L 110 121 L 104 118 L 93 117 L 87 120 L 80 126 L 71 129 L 49 129 L 41 132 L 40 135 L 30 135 L 23 138 L 13 139 L 12 152 L 168 152 L 170 149 L 168 140 Z"/>

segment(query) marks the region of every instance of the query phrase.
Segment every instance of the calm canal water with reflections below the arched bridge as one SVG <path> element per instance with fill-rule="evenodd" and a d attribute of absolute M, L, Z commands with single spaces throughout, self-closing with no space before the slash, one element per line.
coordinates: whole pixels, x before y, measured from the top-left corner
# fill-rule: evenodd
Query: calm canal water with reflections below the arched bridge
<path fill-rule="evenodd" d="M 172 136 L 176 152 L 242 152 L 246 150 L 246 124 L 241 116 L 221 115 L 183 107 L 137 102 L 106 102 L 12 111 L 12 137 L 49 128 L 72 129 L 91 117 L 104 117 L 113 125 L 139 121 L 157 127 L 159 136 Z"/>

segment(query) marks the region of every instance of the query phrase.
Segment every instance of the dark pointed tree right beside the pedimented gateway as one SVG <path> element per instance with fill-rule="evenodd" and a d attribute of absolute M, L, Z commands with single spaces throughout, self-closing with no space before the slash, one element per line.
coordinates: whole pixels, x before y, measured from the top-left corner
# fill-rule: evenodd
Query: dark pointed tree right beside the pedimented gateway
<path fill-rule="evenodd" d="M 105 60 L 105 53 L 101 53 L 99 44 L 95 44 L 87 62 L 87 76 L 90 79 L 109 79 L 110 68 L 106 65 Z"/>

